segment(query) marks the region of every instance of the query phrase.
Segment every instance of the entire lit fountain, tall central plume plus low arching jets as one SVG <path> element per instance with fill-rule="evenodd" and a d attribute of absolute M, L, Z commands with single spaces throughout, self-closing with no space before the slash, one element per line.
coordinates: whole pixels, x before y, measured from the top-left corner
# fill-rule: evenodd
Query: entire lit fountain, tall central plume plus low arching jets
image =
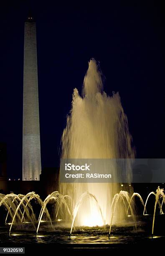
<path fill-rule="evenodd" d="M 113 93 L 112 97 L 107 96 L 103 91 L 99 65 L 91 59 L 84 78 L 82 96 L 77 89 L 74 89 L 71 112 L 67 117 L 66 128 L 61 138 L 61 159 L 132 159 L 135 158 L 135 151 L 131 143 L 127 117 L 119 94 Z M 60 226 L 61 230 L 65 230 L 64 236 L 76 239 L 76 236 L 72 236 L 72 232 L 76 233 L 79 227 L 84 227 L 80 229 L 81 232 L 86 228 L 90 233 L 93 231 L 90 231 L 92 228 L 89 227 L 97 226 L 96 229 L 100 230 L 98 232 L 104 230 L 103 241 L 107 242 L 108 234 L 109 240 L 114 239 L 113 225 L 124 226 L 125 221 L 138 232 L 135 218 L 135 197 L 137 197 L 144 210 L 140 213 L 140 217 L 152 219 L 148 232 L 150 237 L 154 238 L 157 208 L 159 207 L 159 215 L 164 214 L 164 190 L 158 187 L 156 193 L 150 192 L 144 201 L 144 198 L 134 192 L 130 185 L 132 180 L 130 161 L 127 161 L 126 167 L 127 184 L 124 184 L 126 191 L 121 190 L 120 183 L 61 183 L 59 191 L 52 192 L 43 201 L 35 192 L 27 195 L 0 194 L 0 207 L 3 206 L 7 210 L 5 224 L 9 225 L 9 235 L 20 236 L 20 233 L 13 233 L 14 228 L 20 231 L 24 230 L 26 225 L 31 225 L 34 236 L 39 239 L 44 238 L 44 235 L 38 233 L 42 232 L 42 225 L 46 224 L 45 226 L 52 232 L 51 236 Z M 147 214 L 150 197 L 154 197 L 151 215 Z M 53 206 L 51 211 L 50 205 Z M 96 230 L 93 236 L 96 236 Z"/>

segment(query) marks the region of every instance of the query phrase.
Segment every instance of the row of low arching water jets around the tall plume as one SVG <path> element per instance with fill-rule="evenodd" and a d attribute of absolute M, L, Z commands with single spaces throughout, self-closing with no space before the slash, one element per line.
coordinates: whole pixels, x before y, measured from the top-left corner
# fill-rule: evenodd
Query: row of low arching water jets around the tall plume
<path fill-rule="evenodd" d="M 148 198 L 150 197 L 150 195 L 155 196 L 155 204 L 153 204 L 153 207 L 152 207 L 153 209 L 152 215 L 148 215 L 146 210 Z M 134 207 L 132 207 L 132 200 L 135 196 L 137 196 L 140 199 L 140 202 L 144 207 L 143 216 L 145 217 L 145 215 L 148 215 L 152 217 L 152 225 L 150 226 L 149 233 L 152 235 L 151 237 L 153 238 L 155 213 L 156 213 L 157 205 L 159 206 L 160 214 L 161 215 L 164 214 L 162 211 L 162 206 L 163 204 L 165 204 L 165 194 L 164 194 L 164 190 L 160 189 L 160 187 L 157 188 L 156 193 L 155 192 L 149 193 L 145 204 L 141 195 L 138 193 L 133 193 L 132 195 L 129 195 L 128 192 L 121 190 L 119 193 L 114 195 L 112 199 L 112 204 L 111 204 L 112 214 L 111 215 L 109 214 L 110 224 L 108 226 L 105 225 L 104 223 L 102 210 L 98 204 L 96 197 L 90 194 L 89 192 L 84 192 L 81 195 L 81 197 L 79 198 L 78 202 L 74 207 L 73 212 L 71 212 L 71 203 L 66 202 L 66 199 L 70 199 L 70 202 L 71 202 L 71 198 L 69 198 L 68 195 L 65 195 L 65 196 L 61 195 L 58 191 L 52 192 L 50 195 L 48 195 L 48 197 L 46 197 L 44 201 L 42 201 L 39 195 L 37 195 L 35 192 L 30 192 L 27 195 L 15 195 L 13 193 L 9 195 L 0 194 L 0 206 L 4 206 L 5 209 L 8 210 L 5 220 L 10 221 L 10 222 L 6 222 L 6 225 L 10 226 L 9 235 L 12 235 L 12 236 L 20 235 L 19 233 L 12 232 L 13 225 L 16 226 L 16 229 L 19 230 L 20 228 L 20 230 L 23 230 L 25 225 L 30 224 L 33 227 L 32 230 L 34 233 L 36 233 L 37 237 L 44 237 L 44 236 L 38 235 L 38 231 L 41 228 L 41 224 L 46 223 L 46 225 L 48 226 L 48 229 L 51 229 L 52 232 L 56 232 L 56 229 L 59 228 L 60 223 L 61 222 L 63 223 L 64 221 L 64 225 L 62 225 L 61 227 L 62 228 L 68 227 L 67 232 L 68 232 L 68 235 L 70 232 L 70 237 L 71 237 L 73 228 L 74 228 L 74 232 L 76 232 L 74 223 L 75 223 L 75 219 L 76 219 L 76 215 L 78 213 L 79 207 L 81 207 L 81 204 L 83 203 L 83 201 L 86 201 L 87 198 L 90 198 L 95 203 L 96 208 L 98 209 L 101 215 L 102 222 L 104 223 L 105 234 L 107 234 L 109 229 L 109 238 L 111 238 L 112 223 L 113 223 L 114 215 L 117 214 L 117 205 L 120 205 L 121 209 L 123 209 L 123 212 L 125 213 L 125 217 L 127 216 L 132 218 L 132 221 L 133 221 L 132 225 L 134 226 L 134 228 L 138 228 L 135 220 L 135 209 Z M 38 214 L 37 212 L 33 211 L 33 204 L 31 205 L 31 201 L 35 201 L 36 203 L 38 203 L 38 206 L 40 208 L 40 211 L 38 212 Z M 50 214 L 47 209 L 49 202 L 51 202 L 51 204 L 54 205 L 53 212 L 55 214 L 53 215 Z M 63 215 L 63 212 L 60 213 L 59 211 L 59 208 L 60 207 L 63 208 L 63 206 L 66 208 L 68 212 L 68 216 L 70 218 L 69 225 L 65 220 L 62 219 L 62 218 L 65 218 L 65 216 Z M 129 215 L 129 213 L 131 215 Z M 70 227 L 70 231 L 69 231 L 69 227 Z M 97 229 L 99 229 L 99 227 L 97 227 Z"/>

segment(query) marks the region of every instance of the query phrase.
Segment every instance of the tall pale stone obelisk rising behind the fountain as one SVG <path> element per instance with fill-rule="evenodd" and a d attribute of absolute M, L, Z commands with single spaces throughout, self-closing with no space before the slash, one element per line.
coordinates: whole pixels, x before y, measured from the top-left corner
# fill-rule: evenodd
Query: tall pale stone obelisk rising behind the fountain
<path fill-rule="evenodd" d="M 39 180 L 41 174 L 40 123 L 36 23 L 25 21 L 23 70 L 23 180 Z"/>

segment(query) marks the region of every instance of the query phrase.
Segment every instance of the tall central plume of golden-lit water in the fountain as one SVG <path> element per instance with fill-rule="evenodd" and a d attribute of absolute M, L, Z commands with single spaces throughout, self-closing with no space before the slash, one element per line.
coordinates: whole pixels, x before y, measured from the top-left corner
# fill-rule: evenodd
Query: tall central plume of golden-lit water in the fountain
<path fill-rule="evenodd" d="M 129 134 L 127 116 L 121 105 L 119 93 L 107 96 L 103 90 L 99 64 L 91 59 L 84 77 L 82 96 L 75 88 L 72 108 L 67 116 L 66 128 L 61 138 L 61 159 L 129 159 L 135 158 L 132 137 Z M 131 182 L 131 170 L 127 166 L 127 182 Z M 130 187 L 124 185 L 124 190 Z M 106 223 L 110 222 L 111 203 L 121 190 L 117 183 L 61 183 L 60 192 L 72 198 L 71 210 L 80 196 L 88 191 L 101 207 Z M 120 205 L 120 204 L 119 204 Z M 123 209 L 123 207 L 122 207 Z M 117 216 L 122 213 L 117 206 Z M 114 218 L 115 220 L 115 218 Z M 96 204 L 90 198 L 77 213 L 76 225 L 104 225 Z"/>

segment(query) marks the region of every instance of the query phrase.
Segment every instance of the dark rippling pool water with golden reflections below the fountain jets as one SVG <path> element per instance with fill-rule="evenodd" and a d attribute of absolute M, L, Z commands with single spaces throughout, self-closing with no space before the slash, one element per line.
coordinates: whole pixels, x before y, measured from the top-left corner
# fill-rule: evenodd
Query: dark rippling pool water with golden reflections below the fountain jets
<path fill-rule="evenodd" d="M 145 227 L 144 227 L 145 228 Z M 56 231 L 48 232 L 43 231 L 38 236 L 35 236 L 33 232 L 27 231 L 20 232 L 15 230 L 14 233 L 8 235 L 8 228 L 1 228 L 0 232 L 0 242 L 1 243 L 61 243 L 61 244 L 107 244 L 107 245 L 117 245 L 129 244 L 129 243 L 140 243 L 141 241 L 151 240 L 150 234 L 148 234 L 145 229 L 138 229 L 136 232 L 133 227 L 114 227 L 112 230 L 112 235 L 108 239 L 109 227 L 104 230 L 103 227 L 81 227 L 73 232 L 72 236 L 69 237 L 69 228 L 58 228 Z M 17 232 L 16 232 L 17 231 Z M 154 236 L 153 238 L 165 239 L 165 236 Z M 154 239 L 155 240 L 155 239 Z"/>

